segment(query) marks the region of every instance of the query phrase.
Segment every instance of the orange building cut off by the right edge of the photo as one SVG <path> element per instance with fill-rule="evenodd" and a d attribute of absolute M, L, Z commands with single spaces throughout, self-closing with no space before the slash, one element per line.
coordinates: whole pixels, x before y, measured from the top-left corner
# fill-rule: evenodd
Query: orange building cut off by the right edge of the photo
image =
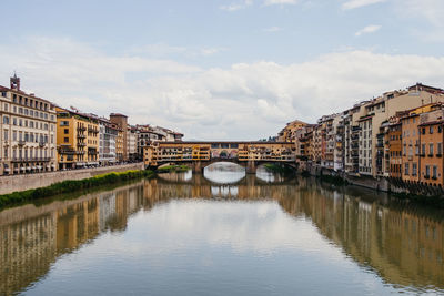
<path fill-rule="evenodd" d="M 425 185 L 443 185 L 443 124 L 444 120 L 420 124 L 421 182 Z"/>

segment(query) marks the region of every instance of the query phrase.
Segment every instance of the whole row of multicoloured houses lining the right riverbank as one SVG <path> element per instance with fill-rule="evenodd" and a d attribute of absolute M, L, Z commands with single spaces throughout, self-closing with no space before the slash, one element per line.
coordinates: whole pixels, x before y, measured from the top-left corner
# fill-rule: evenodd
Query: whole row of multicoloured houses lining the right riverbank
<path fill-rule="evenodd" d="M 444 90 L 416 83 L 386 92 L 316 124 L 289 123 L 302 170 L 443 186 Z"/>

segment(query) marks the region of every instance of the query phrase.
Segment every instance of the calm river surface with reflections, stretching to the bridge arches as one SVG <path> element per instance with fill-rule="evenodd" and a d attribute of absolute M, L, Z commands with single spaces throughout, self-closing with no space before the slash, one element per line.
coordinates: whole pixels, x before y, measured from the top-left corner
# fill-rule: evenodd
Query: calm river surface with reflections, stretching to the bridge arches
<path fill-rule="evenodd" d="M 0 212 L 0 295 L 435 295 L 443 256 L 443 212 L 226 164 Z"/>

